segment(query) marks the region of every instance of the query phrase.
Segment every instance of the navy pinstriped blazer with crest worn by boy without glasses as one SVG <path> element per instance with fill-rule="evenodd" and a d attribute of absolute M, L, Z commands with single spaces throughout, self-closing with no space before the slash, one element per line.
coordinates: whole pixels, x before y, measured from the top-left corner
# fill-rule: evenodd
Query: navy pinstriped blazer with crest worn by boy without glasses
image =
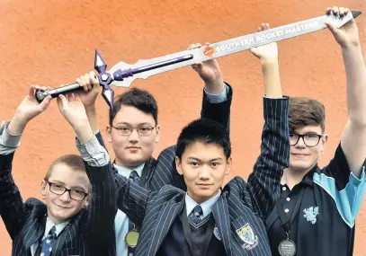
<path fill-rule="evenodd" d="M 212 214 L 228 255 L 271 255 L 263 219 L 281 194 L 281 175 L 289 165 L 288 98 L 266 99 L 261 154 L 245 182 L 236 177 L 222 190 Z M 172 149 L 157 158 L 156 170 L 174 168 Z M 176 172 L 176 171 L 175 171 Z M 141 226 L 136 256 L 153 256 L 184 207 L 185 192 L 165 185 L 148 191 L 128 179 L 116 180 L 118 204 L 132 222 Z"/>

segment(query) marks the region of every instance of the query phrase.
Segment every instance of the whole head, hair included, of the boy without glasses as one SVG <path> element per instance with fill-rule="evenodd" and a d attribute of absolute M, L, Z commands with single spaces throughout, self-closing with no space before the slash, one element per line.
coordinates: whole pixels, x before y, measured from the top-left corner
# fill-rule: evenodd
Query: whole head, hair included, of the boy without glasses
<path fill-rule="evenodd" d="M 231 143 L 226 128 L 210 119 L 192 121 L 179 135 L 175 155 L 188 195 L 201 204 L 218 193 L 230 172 Z"/>

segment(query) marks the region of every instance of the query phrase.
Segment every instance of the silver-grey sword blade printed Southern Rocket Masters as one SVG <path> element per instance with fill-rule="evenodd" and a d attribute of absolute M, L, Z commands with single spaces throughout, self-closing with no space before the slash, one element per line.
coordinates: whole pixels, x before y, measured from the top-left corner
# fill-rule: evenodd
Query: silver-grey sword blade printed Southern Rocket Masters
<path fill-rule="evenodd" d="M 260 47 L 272 42 L 287 40 L 300 35 L 315 31 L 321 31 L 326 28 L 325 22 L 332 22 L 336 27 L 342 27 L 346 22 L 360 15 L 360 12 L 349 12 L 342 18 L 334 13 L 318 16 L 316 18 L 294 22 L 280 27 L 272 28 L 267 31 L 258 31 L 234 39 L 223 40 L 203 46 L 200 49 L 183 50 L 177 53 L 155 57 L 146 60 L 138 60 L 133 65 L 120 62 L 112 66 L 109 71 L 113 74 L 117 70 L 129 68 L 129 76 L 123 77 L 123 81 L 112 82 L 112 85 L 129 87 L 135 79 L 147 79 L 152 75 L 164 73 L 183 66 L 191 66 L 196 62 L 209 60 L 212 58 L 223 57 L 229 54 L 237 53 L 246 49 Z M 123 73 L 124 71 L 122 71 Z"/>

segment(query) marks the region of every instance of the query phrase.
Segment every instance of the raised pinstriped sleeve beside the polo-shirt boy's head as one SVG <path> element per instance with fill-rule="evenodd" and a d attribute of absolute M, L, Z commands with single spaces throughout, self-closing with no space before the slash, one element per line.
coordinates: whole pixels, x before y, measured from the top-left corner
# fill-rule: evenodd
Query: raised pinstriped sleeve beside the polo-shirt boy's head
<path fill-rule="evenodd" d="M 283 169 L 289 167 L 289 98 L 263 98 L 263 111 L 261 154 L 247 183 L 254 212 L 265 218 L 280 199 Z"/>

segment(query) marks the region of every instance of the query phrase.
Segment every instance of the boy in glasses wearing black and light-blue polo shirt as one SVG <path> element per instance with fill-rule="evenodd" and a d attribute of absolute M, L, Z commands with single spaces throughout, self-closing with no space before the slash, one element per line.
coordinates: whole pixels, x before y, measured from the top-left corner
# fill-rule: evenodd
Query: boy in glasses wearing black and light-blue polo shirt
<path fill-rule="evenodd" d="M 333 7 L 326 13 L 331 11 L 350 12 Z M 353 255 L 354 222 L 366 189 L 366 70 L 356 22 L 327 26 L 342 49 L 349 117 L 333 160 L 319 168 L 328 139 L 325 108 L 290 98 L 290 166 L 283 172 L 281 199 L 266 220 L 274 256 Z"/>

